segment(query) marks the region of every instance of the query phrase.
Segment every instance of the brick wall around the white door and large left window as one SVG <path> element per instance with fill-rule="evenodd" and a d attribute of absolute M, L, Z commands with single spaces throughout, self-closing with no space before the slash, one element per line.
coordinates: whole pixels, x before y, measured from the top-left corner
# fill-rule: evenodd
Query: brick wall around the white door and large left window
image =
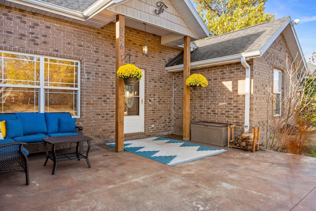
<path fill-rule="evenodd" d="M 94 142 L 115 140 L 115 24 L 95 29 L 0 5 L 0 49 L 76 59 L 81 62 L 81 118 L 77 124 Z M 144 32 L 125 28 L 125 53 L 145 70 L 145 132 L 126 139 L 172 133 L 172 74 L 165 63 L 180 52 L 146 35 L 149 54 L 142 54 Z M 126 60 L 127 62 L 127 60 Z M 149 99 L 152 100 L 149 106 Z M 152 127 L 154 125 L 154 127 Z"/>

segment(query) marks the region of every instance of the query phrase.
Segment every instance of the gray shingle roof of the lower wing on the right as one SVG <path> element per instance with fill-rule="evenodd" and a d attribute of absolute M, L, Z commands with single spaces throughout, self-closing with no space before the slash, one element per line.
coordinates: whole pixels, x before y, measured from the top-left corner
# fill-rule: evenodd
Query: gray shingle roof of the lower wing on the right
<path fill-rule="evenodd" d="M 205 40 L 195 41 L 197 49 L 191 52 L 191 62 L 259 51 L 287 19 L 288 17 L 284 17 Z M 183 64 L 183 52 L 167 62 L 166 66 L 179 64 Z"/>

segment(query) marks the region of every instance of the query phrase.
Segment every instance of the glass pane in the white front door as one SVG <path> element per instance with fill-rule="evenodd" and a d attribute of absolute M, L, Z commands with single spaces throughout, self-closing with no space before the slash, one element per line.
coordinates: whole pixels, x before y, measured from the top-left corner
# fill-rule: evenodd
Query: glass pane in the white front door
<path fill-rule="evenodd" d="M 134 86 L 125 85 L 124 116 L 139 115 L 139 82 Z"/>

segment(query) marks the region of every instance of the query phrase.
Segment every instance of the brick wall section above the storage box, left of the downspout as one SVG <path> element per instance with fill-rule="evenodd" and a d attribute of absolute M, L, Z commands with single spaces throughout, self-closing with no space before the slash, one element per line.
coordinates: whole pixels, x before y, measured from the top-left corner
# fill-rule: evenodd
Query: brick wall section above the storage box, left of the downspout
<path fill-rule="evenodd" d="M 191 90 L 190 121 L 218 122 L 236 125 L 236 133 L 243 131 L 245 68 L 240 63 L 191 70 L 206 77 L 208 86 Z M 182 134 L 183 74 L 174 76 L 174 128 Z"/>

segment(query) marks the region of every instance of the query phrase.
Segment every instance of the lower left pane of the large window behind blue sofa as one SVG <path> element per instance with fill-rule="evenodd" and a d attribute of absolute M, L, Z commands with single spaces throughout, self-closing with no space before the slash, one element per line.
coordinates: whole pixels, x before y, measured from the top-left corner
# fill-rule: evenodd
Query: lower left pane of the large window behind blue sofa
<path fill-rule="evenodd" d="M 1 87 L 2 113 L 39 112 L 39 89 Z"/>

